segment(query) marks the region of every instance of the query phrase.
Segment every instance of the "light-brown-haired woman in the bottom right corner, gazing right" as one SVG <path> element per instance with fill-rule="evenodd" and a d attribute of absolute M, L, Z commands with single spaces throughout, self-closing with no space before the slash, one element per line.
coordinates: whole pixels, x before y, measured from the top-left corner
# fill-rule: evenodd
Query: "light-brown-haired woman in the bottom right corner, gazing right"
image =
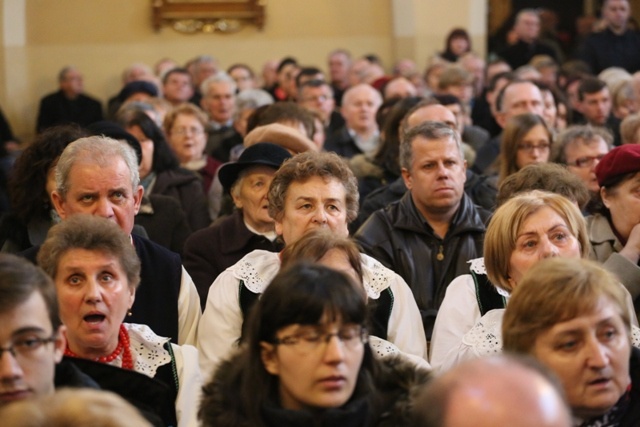
<path fill-rule="evenodd" d="M 640 425 L 640 350 L 626 299 L 600 265 L 550 259 L 525 274 L 507 306 L 504 350 L 557 375 L 575 426 Z"/>

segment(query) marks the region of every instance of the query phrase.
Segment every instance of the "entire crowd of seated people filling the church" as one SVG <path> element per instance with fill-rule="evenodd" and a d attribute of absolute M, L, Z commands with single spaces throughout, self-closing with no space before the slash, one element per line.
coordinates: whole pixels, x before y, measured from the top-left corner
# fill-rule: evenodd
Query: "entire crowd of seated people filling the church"
<path fill-rule="evenodd" d="M 65 67 L 0 141 L 0 418 L 640 425 L 629 14 L 564 62 L 523 9 L 488 62 L 133 64 L 106 109 Z"/>

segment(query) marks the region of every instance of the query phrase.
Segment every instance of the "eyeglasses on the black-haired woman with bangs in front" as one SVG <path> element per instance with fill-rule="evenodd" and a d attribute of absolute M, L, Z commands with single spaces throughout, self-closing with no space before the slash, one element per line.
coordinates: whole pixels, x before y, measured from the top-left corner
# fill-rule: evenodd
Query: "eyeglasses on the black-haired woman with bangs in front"
<path fill-rule="evenodd" d="M 312 353 L 324 348 L 332 337 L 338 338 L 348 350 L 355 350 L 369 341 L 367 329 L 361 325 L 344 326 L 336 332 L 326 332 L 320 328 L 306 329 L 294 335 L 288 335 L 273 340 L 273 344 L 286 345 L 300 353 Z"/>

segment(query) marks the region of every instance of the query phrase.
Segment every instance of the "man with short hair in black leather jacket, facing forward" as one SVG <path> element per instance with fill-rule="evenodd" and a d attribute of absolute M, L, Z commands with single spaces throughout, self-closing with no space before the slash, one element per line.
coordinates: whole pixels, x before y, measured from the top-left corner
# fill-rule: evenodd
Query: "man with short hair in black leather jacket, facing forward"
<path fill-rule="evenodd" d="M 409 284 L 430 339 L 449 283 L 482 256 L 488 212 L 464 193 L 466 162 L 460 136 L 449 125 L 424 122 L 400 143 L 409 191 L 375 212 L 356 234 L 363 251 Z"/>

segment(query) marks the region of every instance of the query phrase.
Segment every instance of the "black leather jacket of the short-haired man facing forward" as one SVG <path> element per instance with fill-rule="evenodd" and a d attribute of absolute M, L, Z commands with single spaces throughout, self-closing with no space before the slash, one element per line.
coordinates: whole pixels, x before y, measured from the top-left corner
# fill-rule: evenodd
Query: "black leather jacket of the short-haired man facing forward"
<path fill-rule="evenodd" d="M 356 233 L 364 253 L 376 258 L 407 282 L 431 338 L 438 308 L 453 279 L 469 272 L 468 261 L 482 256 L 489 213 L 465 194 L 444 239 L 438 237 L 411 197 L 411 192 L 376 211 Z"/>

